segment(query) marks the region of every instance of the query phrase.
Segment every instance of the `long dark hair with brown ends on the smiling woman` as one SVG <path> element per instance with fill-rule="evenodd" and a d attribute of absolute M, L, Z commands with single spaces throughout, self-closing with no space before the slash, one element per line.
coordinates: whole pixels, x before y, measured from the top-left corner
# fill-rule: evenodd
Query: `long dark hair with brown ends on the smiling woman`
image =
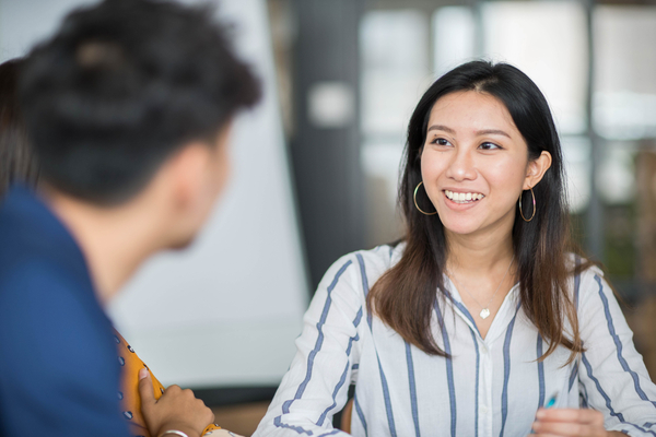
<path fill-rule="evenodd" d="M 438 215 L 424 215 L 413 202 L 421 182 L 421 153 L 429 116 L 441 97 L 460 91 L 475 91 L 496 97 L 511 114 L 528 145 L 528 158 L 541 152 L 551 154 L 551 167 L 534 188 L 537 210 L 530 222 L 515 215 L 513 248 L 519 275 L 522 307 L 535 323 L 549 349 L 542 359 L 562 344 L 572 351 L 570 361 L 583 352 L 576 309 L 567 291 L 572 269 L 566 252 L 571 249 L 565 205 L 564 170 L 560 141 L 549 105 L 536 84 L 522 71 L 506 63 L 472 61 L 440 78 L 419 101 L 408 126 L 405 170 L 399 202 L 406 218 L 406 248 L 401 260 L 373 286 L 367 306 L 406 341 L 427 354 L 446 356 L 431 333 L 436 291 L 446 294 L 443 273 L 447 241 Z M 424 190 L 418 201 L 433 211 Z M 524 193 L 524 215 L 532 214 L 530 193 Z M 569 321 L 569 327 L 567 322 Z M 565 332 L 565 329 L 571 332 Z"/>

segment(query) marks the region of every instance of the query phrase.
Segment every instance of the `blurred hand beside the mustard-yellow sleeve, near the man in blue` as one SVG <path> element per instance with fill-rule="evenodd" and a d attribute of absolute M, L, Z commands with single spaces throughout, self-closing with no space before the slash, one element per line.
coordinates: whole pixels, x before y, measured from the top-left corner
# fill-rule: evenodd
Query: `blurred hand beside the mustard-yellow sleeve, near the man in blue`
<path fill-rule="evenodd" d="M 171 386 L 159 400 L 153 395 L 153 380 L 150 373 L 139 370 L 139 393 L 141 394 L 141 412 L 152 436 L 159 436 L 168 429 L 176 429 L 189 437 L 200 433 L 214 421 L 214 413 L 206 404 L 196 399 L 189 389 Z"/>

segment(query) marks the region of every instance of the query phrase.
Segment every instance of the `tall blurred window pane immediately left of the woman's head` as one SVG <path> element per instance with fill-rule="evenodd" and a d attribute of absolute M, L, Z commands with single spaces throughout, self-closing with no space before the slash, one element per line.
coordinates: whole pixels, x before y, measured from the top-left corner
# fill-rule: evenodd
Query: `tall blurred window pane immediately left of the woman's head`
<path fill-rule="evenodd" d="M 400 237 L 398 170 L 412 109 L 432 81 L 427 17 L 419 11 L 374 11 L 360 27 L 361 160 L 370 246 Z"/>

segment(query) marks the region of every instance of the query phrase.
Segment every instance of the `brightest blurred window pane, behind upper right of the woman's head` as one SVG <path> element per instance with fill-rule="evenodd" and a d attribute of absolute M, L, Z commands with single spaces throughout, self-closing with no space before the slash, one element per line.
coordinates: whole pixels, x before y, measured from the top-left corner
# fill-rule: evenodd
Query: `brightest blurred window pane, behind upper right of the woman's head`
<path fill-rule="evenodd" d="M 485 57 L 509 62 L 547 96 L 561 134 L 586 131 L 587 32 L 574 1 L 485 2 Z"/>

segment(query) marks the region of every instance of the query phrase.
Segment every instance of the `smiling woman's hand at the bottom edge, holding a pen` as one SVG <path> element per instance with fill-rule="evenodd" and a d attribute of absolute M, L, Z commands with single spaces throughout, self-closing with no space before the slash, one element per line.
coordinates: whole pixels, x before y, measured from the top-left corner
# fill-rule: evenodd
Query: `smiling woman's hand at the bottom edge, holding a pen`
<path fill-rule="evenodd" d="M 625 436 L 604 427 L 604 414 L 586 409 L 540 409 L 532 424 L 534 436 L 541 437 L 610 437 Z"/>

